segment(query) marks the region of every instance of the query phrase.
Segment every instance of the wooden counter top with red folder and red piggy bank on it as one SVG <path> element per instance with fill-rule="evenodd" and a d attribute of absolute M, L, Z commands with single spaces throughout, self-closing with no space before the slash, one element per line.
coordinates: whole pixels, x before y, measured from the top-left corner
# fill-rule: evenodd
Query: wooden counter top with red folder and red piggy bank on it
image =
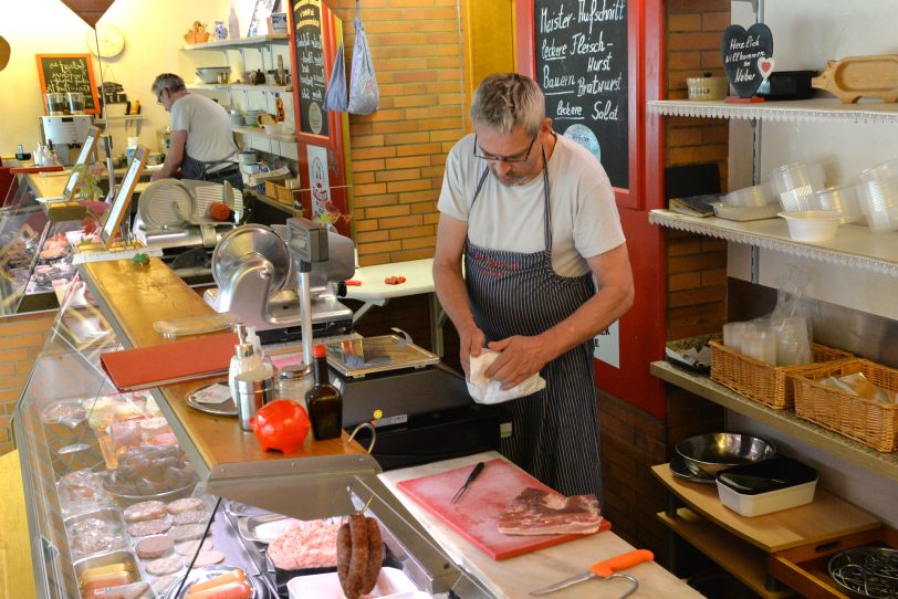
<path fill-rule="evenodd" d="M 137 266 L 130 260 L 92 262 L 80 266 L 87 286 L 94 294 L 101 309 L 107 315 L 119 341 L 125 347 L 145 347 L 173 343 L 153 328 L 156 320 L 185 318 L 211 314 L 208 306 L 197 293 L 181 281 L 171 269 L 159 259 L 152 258 L 148 266 Z M 184 338 L 184 337 L 182 337 Z M 148 365 L 152 368 L 152 365 Z M 263 451 L 255 434 L 240 429 L 232 417 L 212 416 L 200 412 L 187 404 L 188 395 L 199 387 L 223 378 L 206 379 L 173 385 L 159 389 L 163 401 L 159 409 L 168 419 L 178 440 L 201 479 L 211 482 L 252 476 L 280 476 L 280 484 L 297 484 L 297 477 L 311 476 L 319 482 L 333 475 L 375 474 L 379 471 L 372 459 L 357 443 L 348 443 L 346 433 L 341 439 L 314 441 L 306 437 L 302 450 L 282 454 L 275 451 Z M 197 463 L 197 459 L 200 463 Z M 203 472 L 203 469 L 206 472 Z M 323 472 L 323 474 L 322 474 Z M 326 482 L 326 481 L 324 481 Z M 268 503 L 262 507 L 281 513 L 290 511 L 275 509 L 279 501 L 272 493 L 278 483 L 267 483 Z M 241 491 L 249 493 L 252 485 Z M 258 486 L 258 485 L 257 485 Z M 220 493 L 230 498 L 241 498 L 233 492 Z M 242 496 L 247 500 L 247 495 Z M 295 508 L 294 508 L 295 509 Z"/>

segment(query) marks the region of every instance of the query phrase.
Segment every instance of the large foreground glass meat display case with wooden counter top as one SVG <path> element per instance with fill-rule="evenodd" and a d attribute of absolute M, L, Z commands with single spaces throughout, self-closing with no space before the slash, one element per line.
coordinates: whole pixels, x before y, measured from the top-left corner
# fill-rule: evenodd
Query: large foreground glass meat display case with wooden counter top
<path fill-rule="evenodd" d="M 129 261 L 77 266 L 17 406 L 39 597 L 180 598 L 198 585 L 253 599 L 340 597 L 338 529 L 355 512 L 382 534 L 375 596 L 491 597 L 345 434 L 306 440 L 290 455 L 265 452 L 237 418 L 187 407 L 184 395 L 208 379 L 118 392 L 100 357 L 140 345 L 140 318 L 124 318 L 121 302 L 152 303 L 154 284 L 126 300 L 112 287 L 133 288 L 132 272 L 158 283 L 157 267 L 192 302 L 155 259 L 145 271 Z M 156 291 L 171 305 L 155 304 L 149 329 L 185 309 L 167 284 Z"/>

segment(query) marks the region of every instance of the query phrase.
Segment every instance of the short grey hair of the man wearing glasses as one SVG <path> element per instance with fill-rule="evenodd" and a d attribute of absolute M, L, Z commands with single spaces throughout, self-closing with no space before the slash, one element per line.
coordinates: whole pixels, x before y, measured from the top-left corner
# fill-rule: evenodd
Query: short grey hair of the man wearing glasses
<path fill-rule="evenodd" d="M 528 135 L 536 135 L 545 118 L 545 97 L 536 82 L 518 73 L 498 73 L 484 78 L 474 92 L 471 120 L 501 133 L 512 133 L 515 125 Z"/>

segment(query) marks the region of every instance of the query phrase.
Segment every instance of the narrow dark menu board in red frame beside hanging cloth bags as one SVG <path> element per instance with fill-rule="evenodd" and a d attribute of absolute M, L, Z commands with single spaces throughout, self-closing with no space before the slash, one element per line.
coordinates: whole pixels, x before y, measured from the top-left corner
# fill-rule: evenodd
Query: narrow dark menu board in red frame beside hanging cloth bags
<path fill-rule="evenodd" d="M 321 0 L 299 0 L 293 4 L 296 28 L 296 71 L 300 95 L 300 130 L 328 135 L 324 106 L 324 44 Z"/>

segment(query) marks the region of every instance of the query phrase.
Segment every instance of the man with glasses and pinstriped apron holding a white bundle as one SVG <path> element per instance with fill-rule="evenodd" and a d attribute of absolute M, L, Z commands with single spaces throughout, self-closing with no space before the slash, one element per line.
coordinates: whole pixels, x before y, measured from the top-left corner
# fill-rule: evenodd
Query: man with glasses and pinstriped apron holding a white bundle
<path fill-rule="evenodd" d="M 501 451 L 556 491 L 601 496 L 592 340 L 634 295 L 614 190 L 552 130 L 530 77 L 487 77 L 470 116 L 474 133 L 447 157 L 434 260 L 461 366 L 489 347 L 501 354 L 485 375 L 503 389 L 540 372 L 545 390 L 507 403 Z"/>

